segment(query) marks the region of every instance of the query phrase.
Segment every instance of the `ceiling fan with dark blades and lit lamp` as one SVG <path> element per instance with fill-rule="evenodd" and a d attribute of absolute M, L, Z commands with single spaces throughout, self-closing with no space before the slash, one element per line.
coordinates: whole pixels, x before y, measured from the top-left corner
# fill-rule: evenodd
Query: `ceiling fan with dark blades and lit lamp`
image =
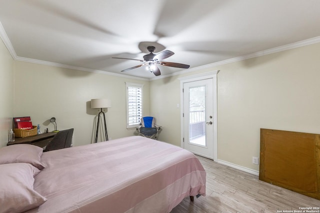
<path fill-rule="evenodd" d="M 164 50 L 158 54 L 153 54 L 155 47 L 154 46 L 148 46 L 147 50 L 150 52 L 149 54 L 143 55 L 143 60 L 139 60 L 139 59 L 133 59 L 133 58 L 118 58 L 118 57 L 112 57 L 112 58 L 118 58 L 118 59 L 128 59 L 128 60 L 135 60 L 135 61 L 141 61 L 143 62 L 140 65 L 137 66 L 133 66 L 124 70 L 121 70 L 121 72 L 124 71 L 128 71 L 131 69 L 135 69 L 141 66 L 147 66 L 147 70 L 149 70 L 150 72 L 152 72 L 155 76 L 160 75 L 160 70 L 159 68 L 156 66 L 156 64 L 160 64 L 163 66 L 170 66 L 170 67 L 177 67 L 177 68 L 189 68 L 190 65 L 187 64 L 180 64 L 180 63 L 173 63 L 173 62 L 164 62 L 161 61 L 165 58 L 170 57 L 171 55 L 174 54 L 174 52 L 170 51 L 170 50 Z"/>

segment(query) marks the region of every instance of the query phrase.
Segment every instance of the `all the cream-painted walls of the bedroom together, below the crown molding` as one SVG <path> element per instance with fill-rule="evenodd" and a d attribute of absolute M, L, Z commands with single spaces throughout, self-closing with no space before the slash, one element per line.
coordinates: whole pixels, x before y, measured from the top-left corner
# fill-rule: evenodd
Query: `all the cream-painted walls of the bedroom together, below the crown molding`
<path fill-rule="evenodd" d="M 134 130 L 125 129 L 127 81 L 144 84 L 144 115 L 162 125 L 161 141 L 179 146 L 178 78 L 220 70 L 218 159 L 258 171 L 251 157 L 259 156 L 260 128 L 320 132 L 319 50 L 316 43 L 148 82 L 13 61 L 0 42 L 0 145 L 7 142 L 11 117 L 26 115 L 41 125 L 41 131 L 53 130 L 48 119 L 54 116 L 58 129 L 74 128 L 75 146 L 90 143 L 97 114 L 89 107 L 92 98 L 112 102 L 106 113 L 109 137 L 133 135 Z"/>

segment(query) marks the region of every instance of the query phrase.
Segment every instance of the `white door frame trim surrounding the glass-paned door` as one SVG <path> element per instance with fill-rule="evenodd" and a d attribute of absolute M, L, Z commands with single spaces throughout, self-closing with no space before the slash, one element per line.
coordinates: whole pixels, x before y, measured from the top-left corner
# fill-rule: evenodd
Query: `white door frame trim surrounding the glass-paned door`
<path fill-rule="evenodd" d="M 183 110 L 184 110 L 184 102 L 183 102 L 183 84 L 199 81 L 204 79 L 212 78 L 212 96 L 213 96 L 213 159 L 208 156 L 209 159 L 213 161 L 217 161 L 217 73 L 219 70 L 205 72 L 197 75 L 191 75 L 187 77 L 178 78 L 180 80 L 180 147 L 184 148 L 184 123 L 183 123 Z"/>

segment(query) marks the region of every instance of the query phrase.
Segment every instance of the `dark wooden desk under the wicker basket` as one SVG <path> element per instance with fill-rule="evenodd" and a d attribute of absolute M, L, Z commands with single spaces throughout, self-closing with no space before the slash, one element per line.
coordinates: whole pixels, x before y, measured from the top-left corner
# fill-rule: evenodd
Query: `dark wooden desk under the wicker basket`
<path fill-rule="evenodd" d="M 41 148 L 45 148 L 55 135 L 56 132 L 47 132 L 25 138 L 15 138 L 14 142 L 8 142 L 6 145 L 9 146 L 13 144 L 31 144 Z"/>

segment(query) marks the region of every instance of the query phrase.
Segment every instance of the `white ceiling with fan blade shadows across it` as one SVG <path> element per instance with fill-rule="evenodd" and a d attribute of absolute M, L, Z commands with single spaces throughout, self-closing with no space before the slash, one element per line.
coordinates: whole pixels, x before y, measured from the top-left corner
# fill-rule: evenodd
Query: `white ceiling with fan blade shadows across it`
<path fill-rule="evenodd" d="M 0 24 L 19 60 L 154 78 L 111 57 L 142 59 L 139 43 L 158 43 L 175 53 L 163 61 L 194 68 L 314 38 L 320 0 L 0 0 Z"/>

